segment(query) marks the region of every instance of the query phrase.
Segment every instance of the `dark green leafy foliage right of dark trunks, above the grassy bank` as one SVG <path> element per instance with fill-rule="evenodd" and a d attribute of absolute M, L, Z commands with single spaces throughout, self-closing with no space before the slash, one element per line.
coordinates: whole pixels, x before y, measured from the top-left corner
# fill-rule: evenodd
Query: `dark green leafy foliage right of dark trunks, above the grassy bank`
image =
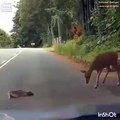
<path fill-rule="evenodd" d="M 98 37 L 105 37 L 105 39 L 107 39 L 108 37 L 112 37 L 118 31 L 120 33 L 120 12 L 118 11 L 120 11 L 119 7 L 96 7 L 92 11 L 90 23 L 97 31 Z"/>

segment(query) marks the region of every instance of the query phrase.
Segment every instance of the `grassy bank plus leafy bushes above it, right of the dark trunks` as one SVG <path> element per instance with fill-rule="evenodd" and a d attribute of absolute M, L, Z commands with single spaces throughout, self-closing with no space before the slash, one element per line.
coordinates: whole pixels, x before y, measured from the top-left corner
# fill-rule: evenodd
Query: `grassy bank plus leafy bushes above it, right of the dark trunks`
<path fill-rule="evenodd" d="M 76 61 L 90 64 L 93 59 L 107 51 L 120 51 L 120 8 L 96 8 L 90 17 L 94 35 L 85 32 L 79 42 L 75 39 L 66 44 L 54 45 L 54 51 Z"/>

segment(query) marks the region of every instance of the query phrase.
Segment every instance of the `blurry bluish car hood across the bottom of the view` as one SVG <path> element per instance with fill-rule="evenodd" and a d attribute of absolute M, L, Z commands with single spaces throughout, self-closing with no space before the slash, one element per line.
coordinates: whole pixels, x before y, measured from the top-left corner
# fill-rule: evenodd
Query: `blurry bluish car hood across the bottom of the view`
<path fill-rule="evenodd" d="M 103 112 L 120 113 L 120 104 L 109 105 L 70 105 L 49 110 L 0 110 L 0 116 L 9 116 L 5 120 L 60 120 L 80 117 L 97 117 Z M 0 119 L 2 120 L 2 119 Z M 4 120 L 4 119 L 3 119 Z"/>

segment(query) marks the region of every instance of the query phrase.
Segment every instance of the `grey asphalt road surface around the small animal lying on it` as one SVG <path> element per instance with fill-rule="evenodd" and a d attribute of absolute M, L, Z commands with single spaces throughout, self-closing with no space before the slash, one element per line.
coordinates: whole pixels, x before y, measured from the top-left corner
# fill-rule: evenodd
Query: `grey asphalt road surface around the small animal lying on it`
<path fill-rule="evenodd" d="M 3 56 L 8 62 L 0 68 L 0 112 L 16 120 L 120 113 L 120 87 L 116 86 L 116 80 L 109 80 L 95 90 L 93 77 L 86 85 L 80 71 L 44 49 L 12 49 L 7 54 L 10 57 Z M 9 100 L 7 92 L 19 89 L 35 95 Z"/>

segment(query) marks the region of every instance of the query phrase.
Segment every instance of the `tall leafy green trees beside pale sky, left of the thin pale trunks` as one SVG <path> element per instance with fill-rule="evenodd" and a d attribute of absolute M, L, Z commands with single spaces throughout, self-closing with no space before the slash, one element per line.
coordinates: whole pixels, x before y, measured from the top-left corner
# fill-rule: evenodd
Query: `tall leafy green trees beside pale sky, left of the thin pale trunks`
<path fill-rule="evenodd" d="M 40 45 L 41 40 L 44 40 L 43 34 L 47 34 L 47 23 L 50 22 L 49 15 L 44 10 L 49 3 L 49 0 L 20 0 L 13 29 L 17 43 L 30 46 L 34 42 L 37 46 Z"/>

